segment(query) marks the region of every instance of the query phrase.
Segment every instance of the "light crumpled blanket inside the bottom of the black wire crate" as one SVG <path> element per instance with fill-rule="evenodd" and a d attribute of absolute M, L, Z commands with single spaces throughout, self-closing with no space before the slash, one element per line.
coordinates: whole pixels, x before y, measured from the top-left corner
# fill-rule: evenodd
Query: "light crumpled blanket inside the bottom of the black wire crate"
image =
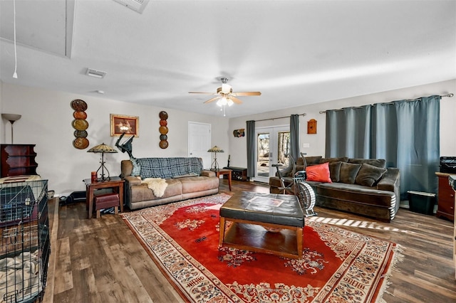
<path fill-rule="evenodd" d="M 38 250 L 23 252 L 16 257 L 5 257 L 0 260 L 0 302 L 14 302 L 5 294 L 18 292 L 17 299 L 31 298 L 41 291 L 38 272 Z M 6 299 L 6 301 L 5 301 Z"/>

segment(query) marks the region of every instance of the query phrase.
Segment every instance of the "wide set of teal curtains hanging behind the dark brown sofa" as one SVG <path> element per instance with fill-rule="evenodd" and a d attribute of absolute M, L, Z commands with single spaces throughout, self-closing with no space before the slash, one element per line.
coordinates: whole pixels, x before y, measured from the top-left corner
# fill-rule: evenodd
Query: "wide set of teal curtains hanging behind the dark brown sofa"
<path fill-rule="evenodd" d="M 385 159 L 407 191 L 437 192 L 440 96 L 326 111 L 326 157 Z"/>

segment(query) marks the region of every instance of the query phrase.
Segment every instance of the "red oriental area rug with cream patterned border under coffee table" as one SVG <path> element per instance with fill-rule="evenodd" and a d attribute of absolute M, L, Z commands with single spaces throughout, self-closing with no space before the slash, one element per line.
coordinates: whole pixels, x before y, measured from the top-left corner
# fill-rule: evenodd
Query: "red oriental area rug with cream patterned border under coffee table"
<path fill-rule="evenodd" d="M 218 248 L 227 194 L 123 214 L 188 302 L 380 302 L 395 243 L 306 220 L 300 260 Z M 264 231 L 267 233 L 267 231 Z"/>

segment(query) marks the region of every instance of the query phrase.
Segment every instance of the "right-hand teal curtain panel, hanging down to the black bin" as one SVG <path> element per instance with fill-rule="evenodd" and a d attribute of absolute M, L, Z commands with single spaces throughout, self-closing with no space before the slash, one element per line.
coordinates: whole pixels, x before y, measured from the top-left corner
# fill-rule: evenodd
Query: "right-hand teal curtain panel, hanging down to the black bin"
<path fill-rule="evenodd" d="M 440 159 L 440 96 L 373 105 L 373 158 L 400 169 L 401 199 L 407 191 L 437 193 Z"/>

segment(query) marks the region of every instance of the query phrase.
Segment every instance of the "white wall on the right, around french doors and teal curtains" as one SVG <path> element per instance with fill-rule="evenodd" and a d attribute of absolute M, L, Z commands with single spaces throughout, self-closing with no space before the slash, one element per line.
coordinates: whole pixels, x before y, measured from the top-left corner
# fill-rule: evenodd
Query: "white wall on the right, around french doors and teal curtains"
<path fill-rule="evenodd" d="M 331 87 L 328 87 L 330 90 Z M 342 107 L 368 105 L 380 102 L 391 102 L 395 100 L 413 99 L 415 97 L 424 97 L 430 95 L 445 95 L 452 92 L 456 95 L 456 80 L 448 80 L 440 83 L 420 85 L 416 87 L 407 87 L 400 90 L 391 90 L 388 92 L 378 92 L 371 95 L 351 97 L 341 100 L 322 102 L 314 105 L 304 105 L 302 107 L 288 108 L 274 112 L 266 112 L 259 115 L 250 115 L 238 117 L 229 120 L 230 133 L 234 129 L 246 128 L 246 121 L 269 119 L 275 117 L 285 117 L 284 119 L 274 119 L 262 122 L 256 122 L 256 127 L 289 125 L 289 116 L 293 114 L 303 114 L 299 117 L 300 128 L 300 146 L 301 151 L 306 152 L 309 156 L 324 156 L 325 154 L 325 132 L 326 132 L 326 115 L 320 114 L 320 111 L 333 110 Z M 321 92 L 322 99 L 324 92 Z M 302 92 L 297 97 L 305 100 L 306 93 Z M 260 101 L 261 102 L 261 101 Z M 280 100 L 277 100 L 280 102 Z M 307 134 L 307 122 L 310 119 L 317 121 L 317 133 Z M 440 154 L 442 156 L 456 156 L 456 96 L 443 97 L 440 101 Z M 309 148 L 304 148 L 303 144 L 309 143 Z M 247 139 L 246 137 L 229 136 L 229 154 L 231 154 L 231 166 L 247 167 Z"/>

